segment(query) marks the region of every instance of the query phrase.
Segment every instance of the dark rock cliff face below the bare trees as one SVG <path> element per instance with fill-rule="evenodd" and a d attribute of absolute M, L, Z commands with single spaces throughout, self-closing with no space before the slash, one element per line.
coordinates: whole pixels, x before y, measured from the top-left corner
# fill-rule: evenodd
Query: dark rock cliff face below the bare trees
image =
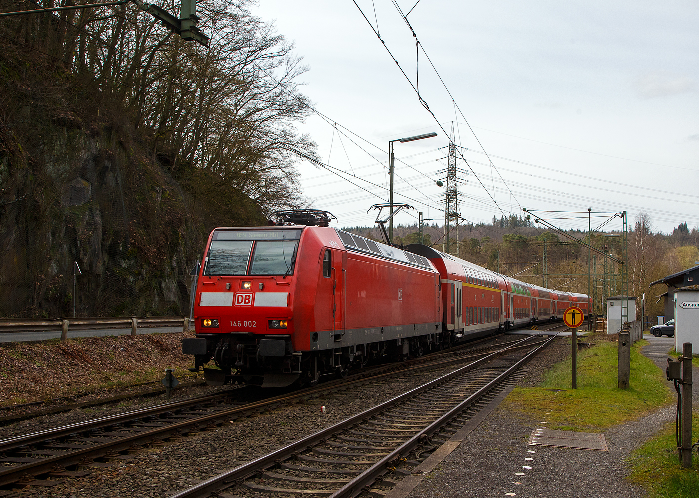
<path fill-rule="evenodd" d="M 75 262 L 78 316 L 187 314 L 210 230 L 264 223 L 99 88 L 6 57 L 0 88 L 0 316 L 72 316 Z"/>

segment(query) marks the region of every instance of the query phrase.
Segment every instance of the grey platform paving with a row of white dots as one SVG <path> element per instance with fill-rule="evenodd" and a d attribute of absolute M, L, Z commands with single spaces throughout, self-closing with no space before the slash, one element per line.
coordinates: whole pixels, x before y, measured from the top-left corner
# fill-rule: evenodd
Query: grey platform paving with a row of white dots
<path fill-rule="evenodd" d="M 642 353 L 664 371 L 665 353 L 675 345 L 674 339 L 644 339 L 649 345 Z M 694 386 L 696 400 L 699 383 Z M 674 417 L 675 406 L 664 406 L 638 420 L 605 429 L 609 451 L 579 450 L 528 446 L 532 430 L 545 426 L 546 421 L 498 406 L 452 453 L 435 462 L 431 471 L 413 478 L 411 489 L 396 488 L 387 498 L 642 497 L 643 488 L 625 479 L 629 473 L 626 457 Z"/>

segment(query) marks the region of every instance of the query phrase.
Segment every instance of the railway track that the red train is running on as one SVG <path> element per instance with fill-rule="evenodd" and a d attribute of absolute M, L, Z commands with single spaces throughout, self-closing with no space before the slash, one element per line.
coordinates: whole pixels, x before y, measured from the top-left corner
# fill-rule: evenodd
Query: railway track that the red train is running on
<path fill-rule="evenodd" d="M 500 336 L 483 341 L 492 339 L 500 340 Z M 495 347 L 516 347 L 517 343 L 521 343 L 521 340 L 505 341 Z M 62 476 L 84 476 L 89 474 L 91 467 L 103 467 L 114 460 L 126 460 L 129 452 L 143 448 L 144 445 L 158 445 L 166 439 L 178 439 L 190 433 L 214 429 L 236 418 L 253 415 L 279 404 L 344 389 L 349 385 L 473 360 L 490 354 L 493 348 L 488 345 L 474 346 L 474 343 L 470 343 L 408 362 L 365 369 L 354 376 L 312 389 L 273 397 L 268 397 L 268 390 L 240 387 L 5 439 L 0 441 L 0 487 L 53 485 L 59 483 L 58 479 Z M 39 476 L 48 479 L 38 478 Z"/>

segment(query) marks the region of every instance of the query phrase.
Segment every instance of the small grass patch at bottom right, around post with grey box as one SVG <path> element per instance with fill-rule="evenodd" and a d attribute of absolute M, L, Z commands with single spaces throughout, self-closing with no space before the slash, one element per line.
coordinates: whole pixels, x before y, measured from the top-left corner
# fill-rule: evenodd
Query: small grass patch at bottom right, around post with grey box
<path fill-rule="evenodd" d="M 692 424 L 692 434 L 699 432 L 699 421 Z M 699 498 L 699 454 L 692 453 L 692 467 L 679 464 L 675 448 L 675 424 L 671 423 L 653 439 L 628 457 L 628 478 L 642 485 L 651 498 Z"/>

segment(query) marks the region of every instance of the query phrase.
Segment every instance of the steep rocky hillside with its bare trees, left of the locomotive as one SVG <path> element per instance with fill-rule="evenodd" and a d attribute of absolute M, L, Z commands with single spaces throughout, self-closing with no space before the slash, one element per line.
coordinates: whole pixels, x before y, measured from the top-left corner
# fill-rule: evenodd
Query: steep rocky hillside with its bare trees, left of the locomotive
<path fill-rule="evenodd" d="M 74 262 L 78 315 L 188 313 L 212 227 L 303 201 L 305 69 L 245 5 L 202 6 L 208 49 L 132 3 L 3 17 L 0 316 L 72 316 Z"/>

